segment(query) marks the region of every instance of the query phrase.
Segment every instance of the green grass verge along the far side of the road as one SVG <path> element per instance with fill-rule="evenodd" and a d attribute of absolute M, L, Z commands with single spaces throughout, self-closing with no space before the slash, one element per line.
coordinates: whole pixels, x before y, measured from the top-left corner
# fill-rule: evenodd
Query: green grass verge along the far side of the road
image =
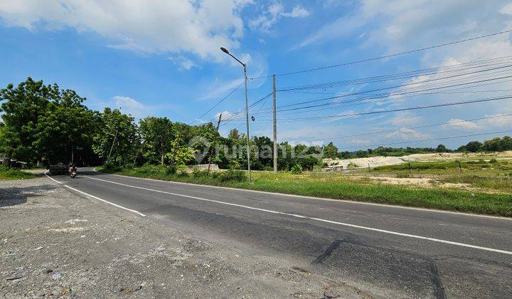
<path fill-rule="evenodd" d="M 512 195 L 509 194 L 485 194 L 442 188 L 423 189 L 387 184 L 369 184 L 365 181 L 355 182 L 336 174 L 326 176 L 254 172 L 252 175 L 253 183 L 248 184 L 244 177 L 240 176 L 230 178 L 229 175 L 223 176 L 223 174 L 218 173 L 207 176 L 205 172 L 168 174 L 162 168 L 159 170 L 159 167 L 153 167 L 152 171 L 148 171 L 148 167 L 108 170 L 100 167 L 97 170 L 131 177 L 192 184 L 512 217 Z"/>

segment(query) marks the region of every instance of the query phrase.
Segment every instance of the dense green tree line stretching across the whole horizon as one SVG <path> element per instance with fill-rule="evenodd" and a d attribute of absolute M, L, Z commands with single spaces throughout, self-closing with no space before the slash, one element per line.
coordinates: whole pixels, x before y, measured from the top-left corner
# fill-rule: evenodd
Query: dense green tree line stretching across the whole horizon
<path fill-rule="evenodd" d="M 146 117 L 137 124 L 134 117 L 119 110 L 94 111 L 83 105 L 85 98 L 74 90 L 28 78 L 0 90 L 0 157 L 31 164 L 68 163 L 72 154 L 77 164 L 114 164 L 133 166 L 161 164 L 182 166 L 208 162 L 224 169 L 246 169 L 246 137 L 231 130 L 227 137 L 218 135 L 215 126 L 186 125 L 166 117 Z M 216 140 L 212 150 L 212 142 Z M 270 170 L 272 140 L 255 136 L 250 140 L 252 169 Z M 372 156 L 403 156 L 428 152 L 449 152 L 444 145 L 430 147 L 378 147 L 339 152 L 331 142 L 324 147 L 278 146 L 280 170 L 292 167 L 313 169 L 322 158 L 349 159 Z M 512 150 L 512 138 L 494 138 L 481 143 L 469 142 L 457 152 Z M 9 161 L 9 159 L 6 159 Z"/>

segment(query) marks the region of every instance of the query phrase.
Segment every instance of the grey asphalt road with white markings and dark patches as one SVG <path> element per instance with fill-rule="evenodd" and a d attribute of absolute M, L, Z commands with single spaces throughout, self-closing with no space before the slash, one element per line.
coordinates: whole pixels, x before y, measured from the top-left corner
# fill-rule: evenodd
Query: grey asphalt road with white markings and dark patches
<path fill-rule="evenodd" d="M 72 192 L 292 258 L 388 298 L 512 298 L 512 219 L 159 182 L 79 169 Z M 85 195 L 82 194 L 82 195 Z M 144 216 L 143 216 L 144 215 Z"/>

